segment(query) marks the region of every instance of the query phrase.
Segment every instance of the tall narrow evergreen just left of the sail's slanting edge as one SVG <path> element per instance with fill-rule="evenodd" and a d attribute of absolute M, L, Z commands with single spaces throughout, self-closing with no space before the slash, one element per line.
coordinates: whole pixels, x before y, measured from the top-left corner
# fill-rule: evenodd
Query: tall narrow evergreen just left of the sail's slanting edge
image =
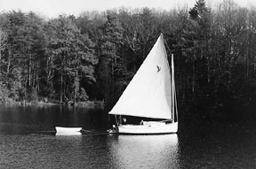
<path fill-rule="evenodd" d="M 100 63 L 98 76 L 100 88 L 104 92 L 107 103 L 113 104 L 114 87 L 116 80 L 116 67 L 120 62 L 119 50 L 122 47 L 123 27 L 115 13 L 108 13 L 107 22 L 101 27 Z"/>

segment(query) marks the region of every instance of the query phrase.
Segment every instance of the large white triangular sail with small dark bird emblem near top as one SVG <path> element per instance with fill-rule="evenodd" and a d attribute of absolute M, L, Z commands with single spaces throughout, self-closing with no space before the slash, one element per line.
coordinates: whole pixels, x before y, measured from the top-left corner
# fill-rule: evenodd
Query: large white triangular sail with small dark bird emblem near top
<path fill-rule="evenodd" d="M 160 35 L 109 114 L 172 119 L 170 66 Z"/>

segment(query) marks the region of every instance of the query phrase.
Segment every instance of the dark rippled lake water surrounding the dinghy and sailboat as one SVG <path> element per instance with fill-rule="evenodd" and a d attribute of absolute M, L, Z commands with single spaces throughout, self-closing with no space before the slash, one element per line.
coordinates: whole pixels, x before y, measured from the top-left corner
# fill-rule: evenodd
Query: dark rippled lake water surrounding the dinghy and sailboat
<path fill-rule="evenodd" d="M 55 135 L 55 126 L 93 132 Z M 117 135 L 107 128 L 102 110 L 0 105 L 0 168 L 256 168 L 252 133 Z"/>

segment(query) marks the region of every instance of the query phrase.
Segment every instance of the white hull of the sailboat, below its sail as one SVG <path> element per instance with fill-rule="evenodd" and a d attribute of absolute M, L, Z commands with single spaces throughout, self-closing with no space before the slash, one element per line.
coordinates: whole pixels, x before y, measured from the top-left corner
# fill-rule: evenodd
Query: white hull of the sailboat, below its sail
<path fill-rule="evenodd" d="M 178 122 L 144 122 L 144 125 L 120 125 L 112 129 L 112 134 L 175 134 L 178 132 Z"/>

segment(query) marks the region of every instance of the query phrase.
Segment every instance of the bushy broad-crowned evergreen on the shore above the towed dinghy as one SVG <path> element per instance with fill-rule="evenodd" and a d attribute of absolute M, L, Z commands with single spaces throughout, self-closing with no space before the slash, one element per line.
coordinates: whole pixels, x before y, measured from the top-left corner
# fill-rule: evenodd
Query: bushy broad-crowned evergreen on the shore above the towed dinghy
<path fill-rule="evenodd" d="M 76 101 L 80 81 L 83 78 L 87 82 L 96 81 L 94 65 L 98 58 L 93 54 L 93 43 L 87 35 L 80 33 L 72 18 L 60 16 L 52 20 L 52 32 L 50 56 L 54 60 L 54 73 L 58 74 L 57 81 L 60 81 L 54 88 L 60 88 L 60 102 L 63 98 L 71 99 L 71 95 Z"/>

